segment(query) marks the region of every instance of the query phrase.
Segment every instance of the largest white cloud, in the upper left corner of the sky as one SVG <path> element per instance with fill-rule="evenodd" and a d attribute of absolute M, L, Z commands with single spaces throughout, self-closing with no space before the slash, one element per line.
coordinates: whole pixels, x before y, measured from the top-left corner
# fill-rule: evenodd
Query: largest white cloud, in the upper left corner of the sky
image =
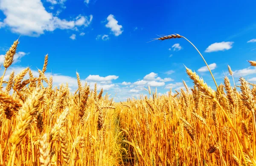
<path fill-rule="evenodd" d="M 56 0 L 51 0 L 55 3 Z M 63 4 L 65 0 L 58 0 Z M 1 0 L 0 10 L 6 18 L 3 26 L 9 26 L 11 31 L 28 36 L 40 36 L 45 31 L 55 29 L 77 29 L 79 26 L 88 26 L 93 18 L 79 15 L 76 19 L 67 21 L 53 16 L 45 10 L 41 0 Z"/>

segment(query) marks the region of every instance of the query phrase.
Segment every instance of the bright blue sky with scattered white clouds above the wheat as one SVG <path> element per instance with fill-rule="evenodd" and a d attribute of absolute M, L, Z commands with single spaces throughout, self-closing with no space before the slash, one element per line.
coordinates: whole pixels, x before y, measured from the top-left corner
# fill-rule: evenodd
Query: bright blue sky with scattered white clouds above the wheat
<path fill-rule="evenodd" d="M 157 34 L 177 33 L 201 51 L 218 83 L 230 65 L 236 81 L 256 82 L 256 1 L 122 1 L 0 0 L 0 63 L 20 37 L 17 74 L 30 66 L 37 75 L 49 54 L 46 76 L 56 86 L 68 82 L 76 91 L 76 72 L 83 82 L 115 97 L 115 101 L 146 94 L 144 87 L 189 87 L 186 65 L 215 89 L 196 50 L 184 39 L 151 41 Z M 202 68 L 203 67 L 203 68 Z M 0 74 L 3 69 L 0 70 Z"/>

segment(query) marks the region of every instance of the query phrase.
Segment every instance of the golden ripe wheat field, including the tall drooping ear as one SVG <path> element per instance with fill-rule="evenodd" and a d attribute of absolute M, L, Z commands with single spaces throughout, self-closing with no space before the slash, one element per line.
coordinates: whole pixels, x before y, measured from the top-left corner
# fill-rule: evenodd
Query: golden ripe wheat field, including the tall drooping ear
<path fill-rule="evenodd" d="M 187 40 L 156 40 L 176 38 Z M 48 55 L 39 77 L 28 67 L 4 80 L 18 44 L 0 78 L 1 166 L 256 166 L 256 84 L 241 77 L 236 85 L 230 66 L 231 80 L 217 85 L 212 75 L 216 91 L 185 67 L 193 88 L 183 81 L 180 92 L 159 95 L 148 86 L 148 97 L 115 103 L 79 73 L 75 93 L 53 87 Z"/>

